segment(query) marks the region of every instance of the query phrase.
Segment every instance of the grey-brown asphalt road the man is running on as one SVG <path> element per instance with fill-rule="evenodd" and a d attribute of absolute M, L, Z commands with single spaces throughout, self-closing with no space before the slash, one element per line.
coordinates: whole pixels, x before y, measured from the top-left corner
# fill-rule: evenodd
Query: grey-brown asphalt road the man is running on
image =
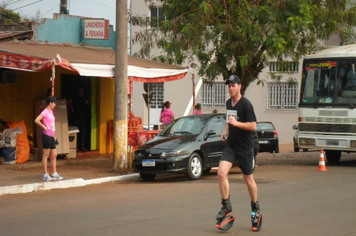
<path fill-rule="evenodd" d="M 356 235 L 356 154 L 317 171 L 319 153 L 259 154 L 255 179 L 263 215 L 252 232 L 238 168 L 230 175 L 233 227 L 215 228 L 216 170 L 0 197 L 0 235 Z"/>

